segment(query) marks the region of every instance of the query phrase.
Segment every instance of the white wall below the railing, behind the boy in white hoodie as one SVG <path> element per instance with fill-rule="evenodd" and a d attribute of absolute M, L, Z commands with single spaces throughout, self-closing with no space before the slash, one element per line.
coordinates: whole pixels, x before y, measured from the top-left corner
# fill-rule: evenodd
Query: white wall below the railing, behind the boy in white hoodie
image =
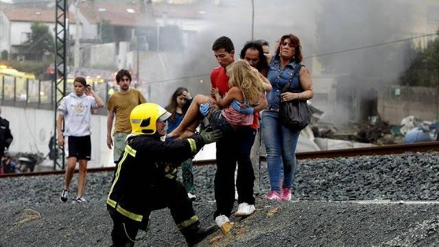
<path fill-rule="evenodd" d="M 54 112 L 44 109 L 1 107 L 1 117 L 10 122 L 14 141 L 10 152 L 49 153 L 49 140 L 54 131 Z M 106 116 L 91 116 L 91 161 L 88 167 L 112 163 L 112 151 L 106 146 Z"/>

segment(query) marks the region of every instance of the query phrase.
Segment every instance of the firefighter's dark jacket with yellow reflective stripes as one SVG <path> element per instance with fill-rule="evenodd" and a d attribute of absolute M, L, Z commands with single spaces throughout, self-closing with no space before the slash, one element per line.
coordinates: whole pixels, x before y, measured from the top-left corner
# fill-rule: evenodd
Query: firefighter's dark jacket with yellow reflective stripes
<path fill-rule="evenodd" d="M 162 142 L 158 135 L 129 138 L 116 166 L 107 198 L 108 209 L 139 223 L 142 229 L 154 210 L 155 198 L 148 196 L 149 192 L 175 183 L 177 166 L 198 153 L 202 146 L 204 140 L 200 135 L 173 142 Z"/>

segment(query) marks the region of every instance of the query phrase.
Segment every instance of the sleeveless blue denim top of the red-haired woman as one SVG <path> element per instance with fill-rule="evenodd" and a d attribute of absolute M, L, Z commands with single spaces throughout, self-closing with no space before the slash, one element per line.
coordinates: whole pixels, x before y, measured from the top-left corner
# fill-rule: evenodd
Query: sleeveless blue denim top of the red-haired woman
<path fill-rule="evenodd" d="M 279 101 L 281 99 L 281 91 L 288 81 L 291 81 L 291 88 L 300 88 L 299 73 L 296 70 L 300 69 L 302 64 L 298 62 L 290 62 L 285 67 L 281 68 L 281 59 L 276 55 L 268 65 L 267 79 L 272 84 L 273 89 L 267 92 L 268 109 L 279 109 Z M 296 75 L 294 75 L 296 74 Z M 293 77 L 294 75 L 294 77 Z"/>

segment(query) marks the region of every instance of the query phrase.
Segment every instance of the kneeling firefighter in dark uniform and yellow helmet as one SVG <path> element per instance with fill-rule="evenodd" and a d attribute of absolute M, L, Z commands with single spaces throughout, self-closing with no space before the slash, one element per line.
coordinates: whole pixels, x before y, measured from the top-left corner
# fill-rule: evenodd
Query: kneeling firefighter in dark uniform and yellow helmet
<path fill-rule="evenodd" d="M 216 224 L 201 227 L 187 197 L 176 180 L 178 164 L 198 153 L 204 144 L 221 138 L 219 130 L 206 129 L 185 140 L 163 142 L 166 120 L 171 114 L 154 103 L 132 109 L 132 133 L 117 164 L 107 198 L 113 221 L 112 246 L 134 246 L 139 229 L 147 231 L 150 213 L 168 207 L 188 246 L 201 242 L 217 230 Z"/>

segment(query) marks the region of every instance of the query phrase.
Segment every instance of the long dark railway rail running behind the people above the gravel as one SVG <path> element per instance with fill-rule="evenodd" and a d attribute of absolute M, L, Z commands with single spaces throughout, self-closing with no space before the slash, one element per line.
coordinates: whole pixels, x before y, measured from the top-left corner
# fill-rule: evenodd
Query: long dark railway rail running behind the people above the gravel
<path fill-rule="evenodd" d="M 336 149 L 328 151 L 313 151 L 313 152 L 300 152 L 296 153 L 296 159 L 322 159 L 322 158 L 336 158 L 336 157 L 353 157 L 362 155 L 392 155 L 406 152 L 439 152 L 439 142 L 418 142 L 415 144 L 395 144 L 385 146 L 371 146 L 365 148 L 346 148 Z M 262 161 L 265 161 L 265 157 L 261 157 Z M 196 166 L 214 165 L 216 159 L 206 159 L 202 161 L 194 161 Z M 87 172 L 110 172 L 114 170 L 113 167 L 105 168 L 89 168 Z M 77 171 L 75 171 L 77 172 Z M 25 172 L 20 174 L 7 173 L 0 174 L 0 179 L 5 177 L 30 177 L 30 176 L 43 176 L 51 174 L 64 174 L 64 170 L 53 170 L 45 172 Z"/>

